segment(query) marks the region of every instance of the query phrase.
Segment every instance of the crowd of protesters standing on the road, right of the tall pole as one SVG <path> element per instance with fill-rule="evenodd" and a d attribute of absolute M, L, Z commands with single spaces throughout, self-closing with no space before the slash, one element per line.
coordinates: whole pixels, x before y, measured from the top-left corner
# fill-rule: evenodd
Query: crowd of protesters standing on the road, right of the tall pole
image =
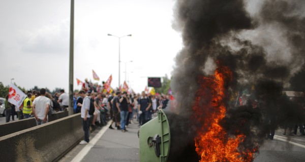
<path fill-rule="evenodd" d="M 152 117 L 157 116 L 158 109 L 164 109 L 169 103 L 169 95 L 150 95 L 142 92 L 116 90 L 111 93 L 103 87 L 85 83 L 82 90 L 74 93 L 74 111 L 80 112 L 83 120 L 84 140 L 80 144 L 89 142 L 89 132 L 95 127 L 105 126 L 111 120 L 109 129 L 127 132 L 132 122 L 144 125 Z M 94 113 L 89 114 L 90 107 L 94 106 Z M 114 124 L 114 125 L 113 125 Z"/>

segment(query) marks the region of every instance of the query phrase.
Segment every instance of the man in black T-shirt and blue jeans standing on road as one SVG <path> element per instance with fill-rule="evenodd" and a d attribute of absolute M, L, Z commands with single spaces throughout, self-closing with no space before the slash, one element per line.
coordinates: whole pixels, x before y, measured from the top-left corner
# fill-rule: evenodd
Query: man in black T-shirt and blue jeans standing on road
<path fill-rule="evenodd" d="M 121 130 L 122 132 L 126 132 L 126 120 L 128 115 L 128 104 L 129 104 L 129 98 L 127 96 L 127 92 L 123 93 L 123 96 L 119 99 L 120 102 L 120 124 L 121 124 Z"/>

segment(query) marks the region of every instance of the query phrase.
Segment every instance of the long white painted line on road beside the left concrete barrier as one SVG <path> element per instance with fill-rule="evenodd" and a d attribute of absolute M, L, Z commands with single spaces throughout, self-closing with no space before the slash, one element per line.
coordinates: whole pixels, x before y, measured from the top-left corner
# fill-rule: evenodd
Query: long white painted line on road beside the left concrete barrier
<path fill-rule="evenodd" d="M 107 125 L 103 127 L 103 129 L 94 136 L 92 140 L 72 159 L 72 162 L 81 161 L 85 155 L 90 151 L 90 149 L 99 141 L 99 139 L 103 136 L 103 134 L 107 131 L 108 127 L 111 124 L 111 120 L 108 121 Z"/>

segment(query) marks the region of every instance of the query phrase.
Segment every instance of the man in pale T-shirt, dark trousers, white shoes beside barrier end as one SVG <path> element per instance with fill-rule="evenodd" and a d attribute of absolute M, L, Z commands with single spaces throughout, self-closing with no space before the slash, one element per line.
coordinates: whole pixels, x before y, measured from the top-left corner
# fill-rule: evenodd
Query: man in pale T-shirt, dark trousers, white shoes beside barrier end
<path fill-rule="evenodd" d="M 82 124 L 83 124 L 83 131 L 85 134 L 84 140 L 80 141 L 79 144 L 84 145 L 88 144 L 89 142 L 89 120 L 90 120 L 90 115 L 89 115 L 89 108 L 90 108 L 90 98 L 86 96 L 85 91 L 81 90 L 78 92 L 79 96 L 83 98 L 83 102 L 78 103 L 77 106 L 81 106 L 80 109 L 80 116 L 82 118 Z"/>

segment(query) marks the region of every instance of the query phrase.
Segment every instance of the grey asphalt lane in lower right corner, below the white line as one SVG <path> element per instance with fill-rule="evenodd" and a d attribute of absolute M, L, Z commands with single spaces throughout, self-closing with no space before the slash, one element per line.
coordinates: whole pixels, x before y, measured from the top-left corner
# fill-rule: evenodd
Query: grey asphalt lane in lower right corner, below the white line
<path fill-rule="evenodd" d="M 287 142 L 266 140 L 254 161 L 305 161 L 305 149 Z"/>

